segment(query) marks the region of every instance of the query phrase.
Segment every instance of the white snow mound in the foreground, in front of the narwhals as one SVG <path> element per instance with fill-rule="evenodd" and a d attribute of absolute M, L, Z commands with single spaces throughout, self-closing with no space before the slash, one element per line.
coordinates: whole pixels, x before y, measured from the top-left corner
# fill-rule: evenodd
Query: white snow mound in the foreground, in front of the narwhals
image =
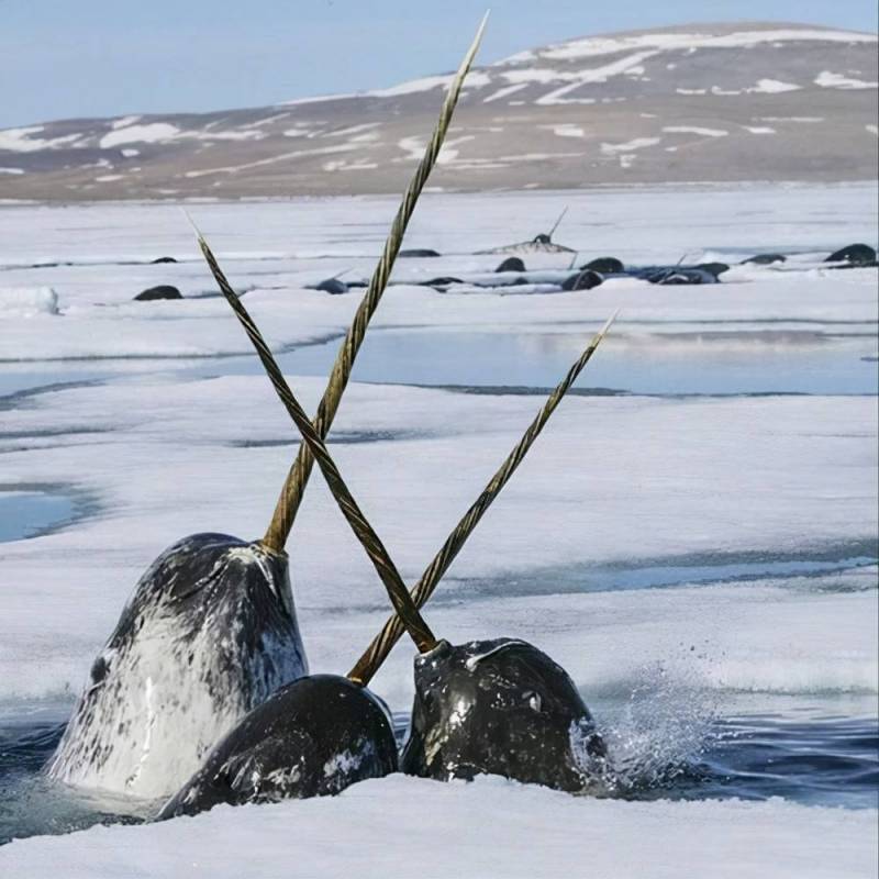
<path fill-rule="evenodd" d="M 413 808 L 414 805 L 414 808 Z M 403 776 L 338 797 L 218 806 L 192 819 L 92 827 L 0 849 L 3 876 L 868 877 L 877 813 L 746 803 L 623 802 L 497 778 Z"/>

